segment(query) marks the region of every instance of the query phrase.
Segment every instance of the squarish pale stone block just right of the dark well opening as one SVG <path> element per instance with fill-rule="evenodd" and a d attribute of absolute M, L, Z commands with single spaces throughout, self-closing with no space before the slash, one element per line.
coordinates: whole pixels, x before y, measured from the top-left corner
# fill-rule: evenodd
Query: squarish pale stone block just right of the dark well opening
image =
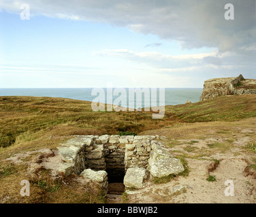
<path fill-rule="evenodd" d="M 145 179 L 146 169 L 133 167 L 127 170 L 124 178 L 124 184 L 127 188 L 141 189 Z"/>

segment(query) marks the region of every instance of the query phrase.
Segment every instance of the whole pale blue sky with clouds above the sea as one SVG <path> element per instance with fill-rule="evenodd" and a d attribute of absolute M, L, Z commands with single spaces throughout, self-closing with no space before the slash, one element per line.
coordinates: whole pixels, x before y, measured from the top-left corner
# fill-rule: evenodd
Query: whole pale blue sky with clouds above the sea
<path fill-rule="evenodd" d="M 256 79 L 255 27 L 255 0 L 0 0 L 0 88 Z"/>

